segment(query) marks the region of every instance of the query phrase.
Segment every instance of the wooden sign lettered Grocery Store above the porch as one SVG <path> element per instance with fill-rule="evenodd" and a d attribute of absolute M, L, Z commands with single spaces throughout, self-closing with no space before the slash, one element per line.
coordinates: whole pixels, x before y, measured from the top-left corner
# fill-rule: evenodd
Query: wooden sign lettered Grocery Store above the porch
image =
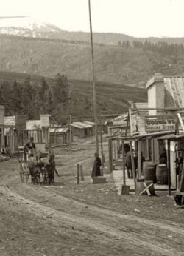
<path fill-rule="evenodd" d="M 145 129 L 146 132 L 174 131 L 176 129 L 176 120 L 174 118 L 146 118 Z"/>

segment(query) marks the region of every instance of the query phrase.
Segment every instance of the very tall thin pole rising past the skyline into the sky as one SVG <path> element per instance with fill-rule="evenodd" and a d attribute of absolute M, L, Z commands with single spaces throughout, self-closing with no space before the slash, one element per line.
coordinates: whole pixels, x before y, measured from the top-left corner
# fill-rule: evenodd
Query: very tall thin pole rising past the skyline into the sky
<path fill-rule="evenodd" d="M 92 71 L 93 71 L 93 114 L 95 122 L 95 137 L 96 137 L 96 152 L 99 153 L 99 134 L 98 134 L 98 119 L 96 110 L 96 87 L 95 87 L 95 70 L 94 70 L 94 54 L 93 54 L 93 30 L 91 21 L 91 1 L 88 0 L 89 4 L 89 19 L 90 19 L 90 35 L 91 35 L 91 61 L 92 61 Z"/>

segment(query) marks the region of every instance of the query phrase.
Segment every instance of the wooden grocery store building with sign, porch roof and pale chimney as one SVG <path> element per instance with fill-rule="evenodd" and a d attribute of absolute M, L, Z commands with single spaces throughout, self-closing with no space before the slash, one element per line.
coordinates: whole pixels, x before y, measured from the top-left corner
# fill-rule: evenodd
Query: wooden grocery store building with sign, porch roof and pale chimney
<path fill-rule="evenodd" d="M 175 162 L 177 158 L 184 157 L 184 78 L 155 74 L 147 82 L 146 89 L 147 103 L 130 103 L 127 113 L 129 134 L 125 136 L 122 132 L 109 138 L 110 169 L 113 170 L 113 161 L 117 161 L 120 157 L 119 141 L 132 143 L 139 162 L 143 152 L 146 161 L 160 164 L 160 155 L 166 150 L 169 159 L 167 162 L 169 186 L 177 189 Z M 175 134 L 179 134 L 180 138 Z M 142 174 L 139 163 L 138 175 Z"/>

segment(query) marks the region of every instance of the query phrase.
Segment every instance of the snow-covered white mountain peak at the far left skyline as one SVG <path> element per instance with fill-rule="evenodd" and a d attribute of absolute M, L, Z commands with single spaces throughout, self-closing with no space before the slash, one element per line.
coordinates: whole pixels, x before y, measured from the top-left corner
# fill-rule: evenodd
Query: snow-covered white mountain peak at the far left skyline
<path fill-rule="evenodd" d="M 50 37 L 62 32 L 60 28 L 29 16 L 0 17 L 0 33 L 14 36 Z"/>

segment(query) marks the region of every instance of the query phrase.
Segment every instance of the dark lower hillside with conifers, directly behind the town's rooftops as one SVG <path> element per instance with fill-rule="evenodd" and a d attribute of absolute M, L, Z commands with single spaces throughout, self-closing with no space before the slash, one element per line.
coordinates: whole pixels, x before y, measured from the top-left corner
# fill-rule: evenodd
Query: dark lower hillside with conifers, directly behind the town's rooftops
<path fill-rule="evenodd" d="M 91 81 L 68 80 L 65 75 L 43 78 L 24 73 L 0 72 L 0 102 L 6 115 L 24 113 L 28 118 L 39 118 L 49 113 L 53 121 L 66 124 L 73 120 L 93 120 Z M 123 113 L 128 101 L 146 101 L 146 90 L 122 84 L 97 83 L 98 115 Z"/>

